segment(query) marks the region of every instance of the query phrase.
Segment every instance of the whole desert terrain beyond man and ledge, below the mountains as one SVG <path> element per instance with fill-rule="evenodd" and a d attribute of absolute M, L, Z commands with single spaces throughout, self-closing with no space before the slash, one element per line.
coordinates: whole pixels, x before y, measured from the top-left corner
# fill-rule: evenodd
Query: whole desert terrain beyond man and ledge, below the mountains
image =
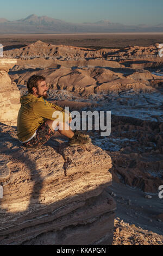
<path fill-rule="evenodd" d="M 1 34 L 0 43 L 4 57 L 17 59 L 9 76 L 21 95 L 39 74 L 49 101 L 71 111 L 111 111 L 110 136 L 87 133 L 112 160 L 112 244 L 163 245 L 163 33 Z"/>

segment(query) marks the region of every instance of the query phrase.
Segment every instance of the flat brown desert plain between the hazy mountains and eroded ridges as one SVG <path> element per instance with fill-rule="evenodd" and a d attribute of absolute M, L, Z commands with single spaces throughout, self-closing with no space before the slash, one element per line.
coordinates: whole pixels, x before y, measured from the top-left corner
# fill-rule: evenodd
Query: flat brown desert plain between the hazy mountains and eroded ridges
<path fill-rule="evenodd" d="M 89 48 L 123 48 L 127 45 L 150 46 L 163 41 L 163 33 L 118 33 L 118 34 L 0 34 L 0 43 L 12 45 L 32 44 L 41 40 L 53 45 L 72 45 Z M 13 46 L 14 48 L 14 46 Z"/>

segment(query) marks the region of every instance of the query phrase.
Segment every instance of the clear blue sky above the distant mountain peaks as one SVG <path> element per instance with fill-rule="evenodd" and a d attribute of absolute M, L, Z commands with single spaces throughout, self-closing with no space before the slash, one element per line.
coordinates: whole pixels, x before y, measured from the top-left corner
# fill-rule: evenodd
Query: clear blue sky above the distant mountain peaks
<path fill-rule="evenodd" d="M 30 14 L 68 22 L 109 20 L 124 25 L 163 23 L 163 0 L 6 0 L 0 17 L 10 21 Z"/>

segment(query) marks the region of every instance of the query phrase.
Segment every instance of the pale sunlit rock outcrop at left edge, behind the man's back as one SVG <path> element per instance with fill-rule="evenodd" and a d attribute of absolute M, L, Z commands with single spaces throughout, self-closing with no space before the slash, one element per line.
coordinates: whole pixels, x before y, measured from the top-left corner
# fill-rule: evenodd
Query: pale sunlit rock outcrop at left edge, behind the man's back
<path fill-rule="evenodd" d="M 11 83 L 8 71 L 17 61 L 11 58 L 0 58 L 0 121 L 8 125 L 17 125 L 17 114 L 20 108 L 20 91 Z"/>

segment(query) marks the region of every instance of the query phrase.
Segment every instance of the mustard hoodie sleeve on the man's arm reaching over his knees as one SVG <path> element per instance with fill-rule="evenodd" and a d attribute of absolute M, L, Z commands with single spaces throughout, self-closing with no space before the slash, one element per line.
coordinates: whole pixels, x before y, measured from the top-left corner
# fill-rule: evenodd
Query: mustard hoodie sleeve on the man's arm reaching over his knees
<path fill-rule="evenodd" d="M 58 106 L 59 107 L 59 106 Z M 33 106 L 33 112 L 37 117 L 42 117 L 50 120 L 58 119 L 59 121 L 69 120 L 69 116 L 62 108 L 52 108 L 49 104 L 46 105 L 43 101 L 37 101 Z M 56 112 L 56 113 L 55 113 Z"/>

